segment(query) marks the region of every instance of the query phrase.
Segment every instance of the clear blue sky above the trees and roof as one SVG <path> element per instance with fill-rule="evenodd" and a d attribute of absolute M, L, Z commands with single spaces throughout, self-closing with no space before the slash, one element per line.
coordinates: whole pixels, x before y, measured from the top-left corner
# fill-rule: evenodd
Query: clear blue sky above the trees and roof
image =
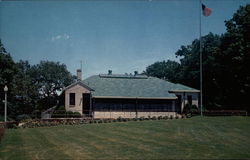
<path fill-rule="evenodd" d="M 201 33 L 222 34 L 224 21 L 250 0 L 202 0 L 212 9 Z M 199 0 L 0 0 L 0 39 L 15 61 L 66 64 L 83 79 L 142 72 L 176 60 L 181 45 L 199 38 Z"/>

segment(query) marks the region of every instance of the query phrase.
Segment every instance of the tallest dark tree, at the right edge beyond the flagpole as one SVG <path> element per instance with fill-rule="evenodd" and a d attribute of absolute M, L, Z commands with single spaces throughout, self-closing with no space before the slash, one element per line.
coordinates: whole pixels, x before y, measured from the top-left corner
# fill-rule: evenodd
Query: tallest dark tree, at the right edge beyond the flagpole
<path fill-rule="evenodd" d="M 250 4 L 241 6 L 225 21 L 227 32 L 222 36 L 221 52 L 216 56 L 221 66 L 220 84 L 223 103 L 247 108 L 250 94 Z"/>

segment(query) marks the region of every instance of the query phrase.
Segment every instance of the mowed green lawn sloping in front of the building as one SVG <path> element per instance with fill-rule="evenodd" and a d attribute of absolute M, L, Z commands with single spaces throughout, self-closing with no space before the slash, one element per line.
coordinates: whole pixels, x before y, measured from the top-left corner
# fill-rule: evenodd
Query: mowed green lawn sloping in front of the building
<path fill-rule="evenodd" d="M 9 129 L 0 159 L 250 158 L 250 117 Z"/>

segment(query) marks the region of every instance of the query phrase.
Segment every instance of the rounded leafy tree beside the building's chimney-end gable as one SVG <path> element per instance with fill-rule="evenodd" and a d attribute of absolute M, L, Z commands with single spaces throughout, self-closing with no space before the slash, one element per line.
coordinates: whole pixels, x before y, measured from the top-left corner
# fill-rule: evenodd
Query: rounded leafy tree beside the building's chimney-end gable
<path fill-rule="evenodd" d="M 31 68 L 34 84 L 39 89 L 39 108 L 44 110 L 56 104 L 63 87 L 70 85 L 74 77 L 67 70 L 65 64 L 52 61 L 41 61 Z"/>

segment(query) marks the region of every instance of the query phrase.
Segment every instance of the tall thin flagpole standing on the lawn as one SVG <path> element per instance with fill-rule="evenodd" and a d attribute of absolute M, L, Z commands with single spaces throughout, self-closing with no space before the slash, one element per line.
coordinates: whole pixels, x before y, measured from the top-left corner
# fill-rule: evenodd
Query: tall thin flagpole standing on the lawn
<path fill-rule="evenodd" d="M 201 116 L 203 116 L 202 113 L 202 42 L 201 42 L 201 14 L 202 14 L 202 3 L 201 0 L 200 1 L 200 9 L 199 9 L 199 16 L 200 16 L 200 107 L 201 107 Z"/>

